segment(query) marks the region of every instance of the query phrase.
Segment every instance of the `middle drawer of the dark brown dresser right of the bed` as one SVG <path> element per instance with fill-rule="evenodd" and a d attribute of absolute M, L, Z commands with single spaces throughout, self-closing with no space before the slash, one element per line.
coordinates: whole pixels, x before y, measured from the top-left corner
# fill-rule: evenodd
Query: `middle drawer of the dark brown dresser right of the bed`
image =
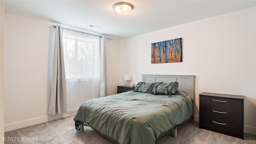
<path fill-rule="evenodd" d="M 217 118 L 236 122 L 242 124 L 243 111 L 241 110 L 228 110 L 222 108 L 213 108 L 211 106 L 200 105 L 200 116 L 206 116 L 210 118 Z"/>

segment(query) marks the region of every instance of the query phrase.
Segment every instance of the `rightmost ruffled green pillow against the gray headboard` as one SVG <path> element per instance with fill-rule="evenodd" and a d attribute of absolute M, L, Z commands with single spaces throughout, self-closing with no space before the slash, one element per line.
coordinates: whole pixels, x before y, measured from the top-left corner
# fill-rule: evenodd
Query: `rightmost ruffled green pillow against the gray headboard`
<path fill-rule="evenodd" d="M 164 94 L 164 95 L 172 95 L 175 94 L 178 90 L 178 82 L 171 83 L 160 83 L 158 86 L 154 87 L 154 94 Z"/>

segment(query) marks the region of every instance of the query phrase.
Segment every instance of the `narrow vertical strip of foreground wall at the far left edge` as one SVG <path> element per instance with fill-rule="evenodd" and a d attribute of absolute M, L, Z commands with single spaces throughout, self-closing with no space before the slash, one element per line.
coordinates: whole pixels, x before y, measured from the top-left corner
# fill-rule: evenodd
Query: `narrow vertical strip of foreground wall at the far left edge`
<path fill-rule="evenodd" d="M 0 144 L 4 144 L 4 0 L 0 0 Z"/>

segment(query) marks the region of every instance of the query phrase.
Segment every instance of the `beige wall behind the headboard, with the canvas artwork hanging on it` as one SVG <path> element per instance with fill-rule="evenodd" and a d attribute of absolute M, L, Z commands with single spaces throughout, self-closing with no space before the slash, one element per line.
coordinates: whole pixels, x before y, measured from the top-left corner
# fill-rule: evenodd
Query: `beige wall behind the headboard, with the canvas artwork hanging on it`
<path fill-rule="evenodd" d="M 151 64 L 151 43 L 182 38 L 183 62 Z M 141 74 L 195 75 L 195 120 L 199 94 L 246 96 L 245 132 L 256 134 L 256 7 L 120 40 L 120 81 Z"/>

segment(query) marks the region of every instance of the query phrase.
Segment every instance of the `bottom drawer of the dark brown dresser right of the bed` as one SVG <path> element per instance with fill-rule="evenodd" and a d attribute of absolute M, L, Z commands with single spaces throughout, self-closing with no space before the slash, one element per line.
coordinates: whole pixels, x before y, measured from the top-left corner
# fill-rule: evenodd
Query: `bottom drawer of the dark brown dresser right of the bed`
<path fill-rule="evenodd" d="M 200 116 L 200 128 L 243 138 L 243 124 Z"/>

